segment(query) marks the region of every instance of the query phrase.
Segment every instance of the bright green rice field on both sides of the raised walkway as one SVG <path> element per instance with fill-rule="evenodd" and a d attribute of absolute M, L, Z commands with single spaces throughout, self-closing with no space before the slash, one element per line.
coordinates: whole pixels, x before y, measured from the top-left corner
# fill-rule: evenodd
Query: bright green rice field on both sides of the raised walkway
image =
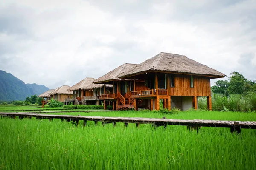
<path fill-rule="evenodd" d="M 63 114 L 63 113 L 58 113 Z M 69 113 L 88 116 L 156 117 L 255 121 L 255 113 L 156 111 Z M 54 119 L 0 118 L 0 169 L 255 169 L 256 131 L 185 126 L 167 129 L 123 123 L 116 127 L 82 122 L 78 127 Z"/>

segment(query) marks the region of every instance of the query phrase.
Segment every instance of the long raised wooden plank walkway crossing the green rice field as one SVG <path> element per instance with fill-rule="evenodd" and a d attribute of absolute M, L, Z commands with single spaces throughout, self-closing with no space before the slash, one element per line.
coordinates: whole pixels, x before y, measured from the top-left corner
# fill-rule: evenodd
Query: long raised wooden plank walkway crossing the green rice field
<path fill-rule="evenodd" d="M 98 122 L 102 122 L 104 126 L 107 123 L 113 123 L 113 126 L 116 123 L 124 123 L 125 127 L 128 126 L 129 123 L 135 123 L 137 127 L 140 124 L 151 124 L 155 127 L 167 125 L 182 125 L 188 126 L 188 128 L 198 130 L 198 127 L 227 127 L 230 128 L 230 131 L 236 131 L 237 133 L 241 132 L 241 129 L 256 129 L 255 121 L 229 121 L 229 120 L 201 120 L 201 119 L 193 119 L 193 120 L 182 120 L 182 119 L 157 119 L 157 118 L 141 118 L 141 117 L 102 117 L 102 116 L 72 116 L 72 115 L 50 115 L 50 114 L 35 114 L 35 113 L 0 113 L 0 116 L 7 116 L 14 118 L 17 116 L 19 119 L 23 119 L 24 117 L 32 118 L 36 117 L 36 119 L 61 119 L 62 121 L 66 120 L 68 122 L 73 121 L 73 123 L 78 124 L 79 120 L 83 120 L 83 125 L 86 125 L 87 121 L 94 121 L 95 124 Z"/>

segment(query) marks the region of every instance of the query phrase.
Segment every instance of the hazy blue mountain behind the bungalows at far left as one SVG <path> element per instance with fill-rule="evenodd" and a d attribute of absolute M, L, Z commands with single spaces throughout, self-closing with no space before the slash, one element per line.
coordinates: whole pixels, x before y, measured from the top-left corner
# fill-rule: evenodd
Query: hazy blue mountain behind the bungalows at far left
<path fill-rule="evenodd" d="M 25 84 L 23 81 L 0 70 L 0 101 L 25 100 L 26 97 L 39 95 L 49 90 L 44 85 Z"/>

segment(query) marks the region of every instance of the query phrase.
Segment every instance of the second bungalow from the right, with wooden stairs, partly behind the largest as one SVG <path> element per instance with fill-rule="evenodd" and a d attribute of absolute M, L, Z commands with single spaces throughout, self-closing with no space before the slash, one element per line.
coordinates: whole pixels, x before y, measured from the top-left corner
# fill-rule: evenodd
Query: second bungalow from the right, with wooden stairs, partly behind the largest
<path fill-rule="evenodd" d="M 136 66 L 136 64 L 125 63 L 93 81 L 95 84 L 104 84 L 104 93 L 101 94 L 101 99 L 103 99 L 105 109 L 107 108 L 107 105 L 113 105 L 114 110 L 118 108 L 133 107 L 134 98 L 131 98 L 130 92 L 145 90 L 144 80 L 137 80 L 135 83 L 134 79 L 117 77 L 122 72 L 127 71 L 134 66 Z M 106 85 L 113 85 L 113 90 L 107 91 Z"/>

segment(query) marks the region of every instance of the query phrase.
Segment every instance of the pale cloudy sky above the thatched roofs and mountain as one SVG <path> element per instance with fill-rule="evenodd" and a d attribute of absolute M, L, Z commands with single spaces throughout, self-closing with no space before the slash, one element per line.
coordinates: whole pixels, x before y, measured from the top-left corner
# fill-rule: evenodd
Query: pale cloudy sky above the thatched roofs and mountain
<path fill-rule="evenodd" d="M 256 80 L 256 0 L 0 0 L 0 70 L 25 83 L 73 86 L 160 52 Z"/>

